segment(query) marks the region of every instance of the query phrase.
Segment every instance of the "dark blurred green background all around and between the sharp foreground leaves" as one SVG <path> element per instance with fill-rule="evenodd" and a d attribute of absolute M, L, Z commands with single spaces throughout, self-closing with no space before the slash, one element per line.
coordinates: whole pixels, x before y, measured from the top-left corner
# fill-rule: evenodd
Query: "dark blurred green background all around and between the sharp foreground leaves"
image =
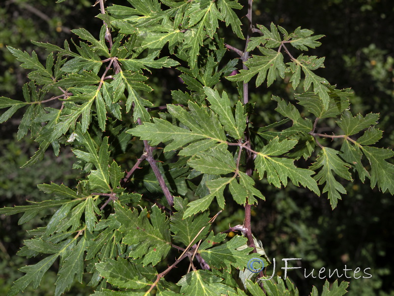
<path fill-rule="evenodd" d="M 127 5 L 124 0 L 107 0 L 106 4 L 111 5 L 113 2 Z M 244 0 L 239 2 L 246 3 Z M 62 46 L 65 39 L 72 37 L 70 29 L 83 27 L 97 36 L 101 27 L 101 21 L 95 18 L 98 7 L 91 6 L 93 1 L 67 0 L 56 4 L 53 0 L 4 0 L 2 3 L 0 96 L 16 100 L 22 98 L 22 86 L 27 82 L 26 72 L 19 67 L 19 62 L 8 52 L 6 45 L 28 52 L 34 49 L 39 58 L 44 60 L 47 53 L 35 48 L 30 40 Z M 240 13 L 245 14 L 245 9 Z M 301 26 L 313 30 L 315 34 L 326 35 L 321 39 L 322 46 L 310 52 L 326 57 L 326 68 L 320 69 L 317 74 L 327 78 L 331 84 L 337 84 L 338 88 L 351 87 L 354 90 L 354 113 L 365 115 L 379 112 L 378 127 L 385 133 L 378 145 L 393 148 L 393 0 L 254 0 L 253 19 L 255 23 L 265 26 L 269 26 L 272 21 L 287 31 Z M 243 48 L 243 43 L 230 33 L 230 30 L 222 30 L 226 42 Z M 229 55 L 235 57 L 232 53 Z M 168 94 L 176 73 L 157 70 L 152 74 L 153 77 L 155 75 L 156 78 L 150 80 L 155 91 L 146 98 L 155 98 L 156 102 L 161 100 L 163 105 L 171 100 Z M 279 118 L 273 112 L 276 104 L 270 98 L 275 94 L 292 101 L 293 92 L 287 83 L 285 79 L 285 83 L 279 80 L 269 88 L 264 87 L 264 84 L 258 89 L 252 87 L 252 102 L 259 106 L 252 117 L 255 124 L 263 126 Z M 224 82 L 223 87 L 227 89 L 231 85 Z M 235 96 L 236 90 L 233 93 Z M 72 153 L 66 149 L 58 158 L 48 151 L 42 162 L 28 169 L 20 169 L 33 155 L 36 146 L 28 138 L 16 141 L 19 121 L 20 114 L 15 114 L 0 125 L 1 206 L 48 199 L 50 196 L 38 191 L 37 184 L 55 182 L 72 186 L 79 174 L 71 169 Z M 330 131 L 329 128 L 330 122 L 327 122 L 327 126 L 321 126 L 321 131 Z M 122 159 L 117 161 L 123 161 L 126 167 L 130 165 L 128 162 L 133 161 L 131 157 Z M 305 278 L 304 268 L 307 274 L 315 268 L 316 276 L 321 267 L 326 270 L 338 268 L 341 271 L 346 264 L 347 268 L 353 270 L 370 267 L 372 274 L 369 279 L 352 278 L 348 295 L 394 296 L 393 196 L 372 190 L 368 181 L 365 184 L 355 181 L 346 185 L 348 194 L 332 211 L 325 195 L 317 197 L 293 185 L 278 190 L 264 181 L 259 182 L 258 186 L 266 201 L 253 209 L 253 231 L 263 241 L 268 257 L 276 259 L 276 271 L 280 272 L 280 267 L 284 266 L 282 258 L 302 258 L 302 268 L 288 273 L 296 282 L 300 295 L 307 295 L 312 285 L 321 290 L 325 281 Z M 216 230 L 227 229 L 229 223 L 232 226 L 242 224 L 242 209 L 234 206 L 231 213 L 231 216 L 221 214 Z M 36 218 L 23 225 L 17 224 L 18 219 L 14 216 L 0 217 L 0 295 L 4 295 L 12 282 L 23 274 L 18 268 L 34 263 L 34 258 L 21 258 L 15 254 L 23 240 L 30 237 L 27 230 L 41 226 L 45 218 Z M 271 272 L 272 269 L 269 269 L 267 274 Z M 339 280 L 346 279 L 342 276 Z M 29 287 L 24 295 L 53 295 L 55 281 L 56 266 L 45 275 L 37 291 L 33 292 Z M 78 284 L 66 295 L 89 295 L 91 292 L 92 288 Z"/>

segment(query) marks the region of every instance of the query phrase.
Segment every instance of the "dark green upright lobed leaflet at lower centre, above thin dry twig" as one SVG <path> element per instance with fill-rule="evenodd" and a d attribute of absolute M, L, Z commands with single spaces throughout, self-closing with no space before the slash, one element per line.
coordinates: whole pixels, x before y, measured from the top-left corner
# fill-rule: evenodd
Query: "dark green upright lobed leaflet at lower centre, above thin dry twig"
<path fill-rule="evenodd" d="M 183 218 L 186 211 L 188 201 L 187 199 L 181 199 L 180 197 L 174 197 L 174 208 L 176 212 L 171 216 L 170 229 L 174 233 L 174 239 L 179 240 L 185 246 L 196 237 L 198 231 L 202 227 L 208 224 L 208 213 L 202 213 L 201 215 Z M 209 231 L 209 227 L 205 227 L 204 230 L 198 235 L 195 241 L 204 238 Z"/>

